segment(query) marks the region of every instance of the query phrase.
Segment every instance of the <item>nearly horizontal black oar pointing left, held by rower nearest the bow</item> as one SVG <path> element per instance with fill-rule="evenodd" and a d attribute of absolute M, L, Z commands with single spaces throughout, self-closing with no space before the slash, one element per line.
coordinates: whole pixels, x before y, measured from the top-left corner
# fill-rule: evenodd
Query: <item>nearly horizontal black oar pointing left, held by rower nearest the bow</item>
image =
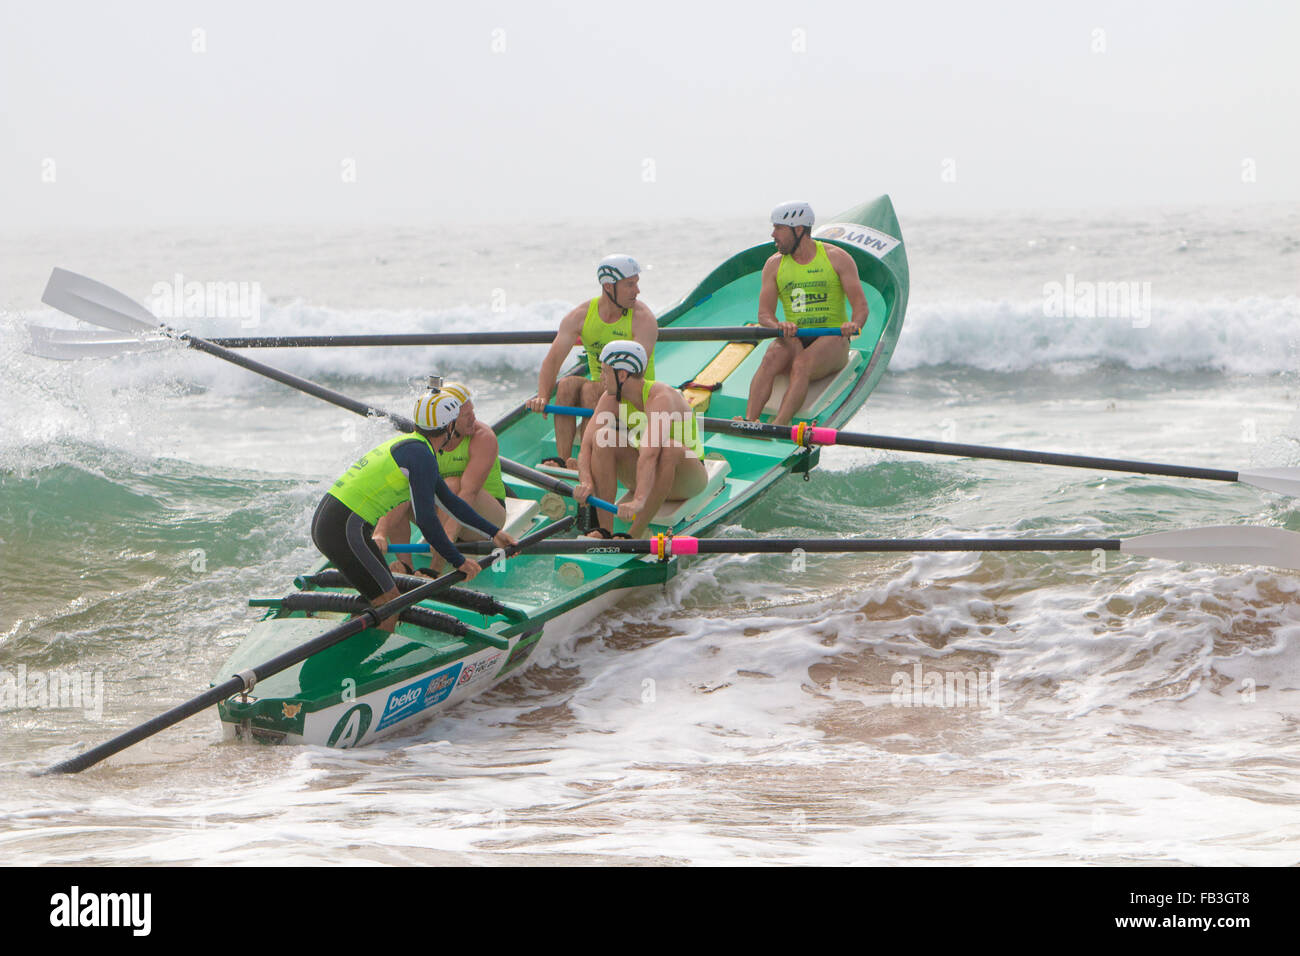
<path fill-rule="evenodd" d="M 116 326 L 114 326 L 116 328 Z M 114 336 L 94 329 L 51 329 L 44 325 L 27 325 L 31 334 L 34 355 L 46 359 L 81 359 L 118 352 L 144 351 L 165 338 L 155 336 L 139 339 L 130 336 Z M 659 330 L 660 342 L 748 342 L 762 338 L 776 338 L 777 329 L 763 325 L 734 326 L 692 326 Z M 800 329 L 800 338 L 818 336 L 838 336 L 838 329 Z M 244 336 L 237 338 L 209 338 L 222 349 L 352 349 L 352 347 L 393 347 L 430 345 L 550 345 L 555 339 L 554 330 L 537 332 L 428 332 L 408 334 L 373 336 Z"/>

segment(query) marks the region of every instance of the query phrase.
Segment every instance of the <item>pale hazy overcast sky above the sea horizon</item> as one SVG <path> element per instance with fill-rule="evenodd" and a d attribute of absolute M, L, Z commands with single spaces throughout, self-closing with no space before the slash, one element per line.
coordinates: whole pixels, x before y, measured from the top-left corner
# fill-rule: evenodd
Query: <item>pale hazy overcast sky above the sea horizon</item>
<path fill-rule="evenodd" d="M 1300 199 L 1295 3 L 18 3 L 0 229 Z"/>

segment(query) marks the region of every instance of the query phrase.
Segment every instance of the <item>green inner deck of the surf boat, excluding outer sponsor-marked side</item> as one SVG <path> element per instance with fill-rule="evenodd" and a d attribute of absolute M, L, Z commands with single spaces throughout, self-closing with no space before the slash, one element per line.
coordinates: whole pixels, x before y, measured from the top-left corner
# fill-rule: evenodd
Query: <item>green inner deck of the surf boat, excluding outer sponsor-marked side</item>
<path fill-rule="evenodd" d="M 898 222 L 888 198 L 881 196 L 857 209 L 842 213 L 838 221 L 861 222 L 880 229 L 901 239 Z M 863 291 L 867 297 L 868 321 L 852 349 L 861 354 L 862 371 L 852 388 L 828 395 L 814 418 L 824 425 L 841 427 L 866 401 L 888 365 L 897 342 L 907 297 L 907 264 L 902 243 L 884 260 L 850 245 L 837 243 L 853 255 L 858 264 Z M 772 254 L 771 243 L 755 246 L 715 269 L 679 306 L 660 317 L 662 326 L 734 326 L 757 319 L 760 271 Z M 660 342 L 655 349 L 655 368 L 659 381 L 673 385 L 692 380 L 723 349 L 725 342 Z M 745 362 L 712 394 L 707 415 L 731 419 L 742 415 L 749 397 L 749 380 L 771 345 L 760 342 Z M 585 359 L 584 359 L 585 368 Z M 554 418 L 526 411 L 523 406 L 495 424 L 503 458 L 521 464 L 536 464 L 555 453 Z M 722 492 L 711 498 L 693 519 L 672 531 L 703 535 L 770 489 L 776 481 L 798 467 L 811 467 L 811 457 L 789 442 L 763 441 L 732 434 L 706 433 L 706 457 L 725 457 L 731 471 Z M 512 497 L 538 499 L 543 492 L 517 479 L 506 476 Z M 620 493 L 621 493 L 620 486 Z M 572 512 L 573 502 L 567 502 Z M 538 518 L 534 527 L 545 519 Z M 658 528 L 663 529 L 663 528 Z M 419 538 L 416 538 L 419 540 Z M 416 564 L 428 558 L 416 557 Z M 326 567 L 321 564 L 320 567 Z M 563 568 L 563 574 L 560 570 Z M 320 568 L 317 568 L 320 570 Z M 473 628 L 502 637 L 536 633 L 545 622 L 556 618 L 611 589 L 624 589 L 659 584 L 676 574 L 677 561 L 656 562 L 628 555 L 520 555 L 504 562 L 504 571 L 484 571 L 473 589 L 489 593 L 508 605 L 512 618 L 488 618 L 480 613 L 456 609 L 436 601 L 425 607 L 451 614 Z M 578 579 L 581 575 L 581 580 Z M 354 592 L 355 593 L 355 592 Z M 268 661 L 311 637 L 335 626 L 347 615 L 317 613 L 308 617 L 302 611 L 268 611 L 248 637 L 240 644 L 218 672 L 220 679 Z M 247 702 L 226 701 L 221 705 L 222 719 L 244 718 L 274 719 L 282 730 L 300 724 L 303 711 L 313 711 L 339 702 L 346 695 L 361 696 L 372 689 L 398 685 L 432 670 L 450 666 L 468 653 L 481 650 L 486 644 L 469 637 L 454 637 L 430 632 L 410 623 L 399 623 L 396 633 L 364 631 L 334 648 L 316 654 L 308 661 L 270 676 L 257 684 L 256 698 Z M 516 648 L 517 652 L 517 648 Z M 280 705 L 294 701 L 303 706 L 289 718 Z M 287 710 L 292 710 L 289 708 Z"/>

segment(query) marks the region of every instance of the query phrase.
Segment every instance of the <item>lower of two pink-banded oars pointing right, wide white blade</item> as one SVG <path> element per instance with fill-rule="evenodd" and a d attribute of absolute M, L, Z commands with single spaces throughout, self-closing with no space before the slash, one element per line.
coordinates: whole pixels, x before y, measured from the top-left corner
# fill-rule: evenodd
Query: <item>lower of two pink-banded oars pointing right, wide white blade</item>
<path fill-rule="evenodd" d="M 488 554 L 490 541 L 458 542 L 467 554 Z M 389 545 L 391 551 L 428 550 L 426 544 Z M 1300 533 L 1283 528 L 1223 524 L 1160 531 L 1134 537 L 760 537 L 566 538 L 547 541 L 533 554 L 857 554 L 874 551 L 1119 551 L 1201 564 L 1264 564 L 1300 568 Z"/>

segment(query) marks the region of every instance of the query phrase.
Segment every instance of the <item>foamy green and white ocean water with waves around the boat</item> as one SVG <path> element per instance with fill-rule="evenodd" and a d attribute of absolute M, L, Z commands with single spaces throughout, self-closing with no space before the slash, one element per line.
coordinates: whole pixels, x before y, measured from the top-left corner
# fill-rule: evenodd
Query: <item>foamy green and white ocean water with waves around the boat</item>
<path fill-rule="evenodd" d="M 1219 468 L 1300 466 L 1300 208 L 898 211 L 894 360 L 849 428 Z M 0 706 L 13 864 L 1300 861 L 1300 576 L 1092 554 L 693 559 L 523 675 L 359 750 L 191 718 L 74 778 L 29 771 L 207 687 L 315 559 L 325 484 L 382 425 L 204 355 L 23 351 L 62 265 L 148 300 L 259 284 L 212 336 L 554 328 L 607 251 L 658 311 L 753 222 L 250 229 L 0 243 Z M 276 350 L 386 407 L 455 373 L 491 420 L 542 347 Z M 1300 531 L 1236 484 L 826 449 L 755 535 Z M 96 691 L 98 688 L 98 691 Z M 3 688 L 0 688 L 3 689 Z M 66 701 L 64 701 L 66 702 Z"/>

